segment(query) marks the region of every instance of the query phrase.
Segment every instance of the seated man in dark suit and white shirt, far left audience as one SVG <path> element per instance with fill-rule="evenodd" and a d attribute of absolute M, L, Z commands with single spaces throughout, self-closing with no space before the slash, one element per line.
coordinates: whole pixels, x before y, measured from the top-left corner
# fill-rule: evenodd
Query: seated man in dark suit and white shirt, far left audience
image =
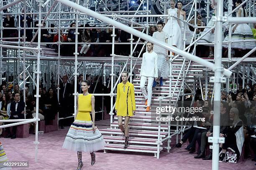
<path fill-rule="evenodd" d="M 20 100 L 19 93 L 15 93 L 14 99 L 15 101 L 13 101 L 10 105 L 10 113 L 11 113 L 10 119 L 24 119 L 24 114 L 26 113 L 24 111 L 25 102 Z M 10 123 L 14 123 L 14 122 L 10 122 Z M 12 132 L 10 132 L 10 127 L 7 127 L 6 130 L 8 132 L 8 135 L 5 138 L 8 138 L 8 137 L 10 137 L 11 139 L 16 138 L 17 126 L 13 126 Z"/>

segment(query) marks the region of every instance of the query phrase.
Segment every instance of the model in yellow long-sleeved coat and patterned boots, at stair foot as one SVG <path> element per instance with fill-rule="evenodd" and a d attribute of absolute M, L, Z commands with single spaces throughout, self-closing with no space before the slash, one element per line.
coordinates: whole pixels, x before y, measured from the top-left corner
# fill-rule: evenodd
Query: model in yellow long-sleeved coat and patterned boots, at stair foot
<path fill-rule="evenodd" d="M 134 86 L 128 81 L 129 73 L 123 71 L 121 74 L 122 82 L 117 86 L 117 95 L 115 102 L 115 112 L 118 116 L 118 126 L 125 135 L 125 145 L 124 148 L 128 147 L 129 139 L 129 119 L 135 114 L 135 93 Z M 125 117 L 123 126 L 123 117 Z"/>

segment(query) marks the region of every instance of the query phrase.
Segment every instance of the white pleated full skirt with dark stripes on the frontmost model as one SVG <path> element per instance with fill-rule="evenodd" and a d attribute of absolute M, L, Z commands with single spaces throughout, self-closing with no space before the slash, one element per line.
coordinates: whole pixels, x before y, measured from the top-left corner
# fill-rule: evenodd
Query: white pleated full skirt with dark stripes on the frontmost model
<path fill-rule="evenodd" d="M 88 114 L 90 116 L 90 112 Z M 70 151 L 95 152 L 104 149 L 105 145 L 100 131 L 96 129 L 93 132 L 91 120 L 76 119 L 69 128 L 62 147 Z"/>

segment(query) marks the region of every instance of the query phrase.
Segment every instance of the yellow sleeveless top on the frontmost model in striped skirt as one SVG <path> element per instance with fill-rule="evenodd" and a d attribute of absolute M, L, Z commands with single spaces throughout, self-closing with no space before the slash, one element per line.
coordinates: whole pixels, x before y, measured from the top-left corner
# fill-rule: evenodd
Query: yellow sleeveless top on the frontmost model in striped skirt
<path fill-rule="evenodd" d="M 92 111 L 92 94 L 88 94 L 84 96 L 83 94 L 79 94 L 78 96 L 78 111 Z"/>

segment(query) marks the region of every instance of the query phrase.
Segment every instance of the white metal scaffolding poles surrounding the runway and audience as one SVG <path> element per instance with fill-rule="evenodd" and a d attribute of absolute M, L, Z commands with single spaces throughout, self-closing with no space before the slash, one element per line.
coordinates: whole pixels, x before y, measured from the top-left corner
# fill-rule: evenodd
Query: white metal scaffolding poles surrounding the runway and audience
<path fill-rule="evenodd" d="M 205 75 L 205 99 L 209 95 L 213 99 L 213 92 L 215 92 L 214 102 L 216 102 L 216 106 L 214 108 L 214 124 L 218 124 L 220 122 L 220 91 L 221 85 L 226 84 L 226 91 L 229 91 L 229 80 L 233 80 L 233 84 L 235 83 L 235 79 L 237 79 L 238 85 L 238 77 L 241 76 L 240 73 L 243 74 L 243 86 L 245 83 L 245 79 L 247 81 L 255 82 L 255 68 L 254 63 L 248 63 L 250 61 L 256 61 L 253 58 L 248 58 L 253 52 L 256 51 L 256 47 L 253 48 L 251 51 L 246 53 L 242 58 L 232 58 L 231 53 L 231 32 L 232 32 L 232 24 L 234 23 L 256 23 L 256 15 L 255 15 L 255 0 L 245 0 L 241 5 L 248 3 L 247 9 L 248 13 L 250 14 L 250 18 L 238 18 L 232 17 L 232 13 L 234 13 L 241 5 L 237 8 L 232 10 L 232 0 L 228 0 L 228 13 L 223 15 L 223 0 L 218 1 L 217 13 L 215 17 L 215 25 L 210 27 L 206 33 L 196 37 L 196 30 L 199 28 L 209 28 L 207 26 L 198 26 L 197 25 L 197 7 L 198 2 L 197 0 L 192 0 L 191 2 L 187 3 L 187 5 L 191 6 L 189 10 L 189 15 L 187 20 L 181 20 L 180 18 L 176 18 L 171 15 L 166 15 L 166 10 L 169 7 L 169 1 L 160 1 L 157 2 L 162 6 L 164 9 L 163 13 L 161 14 L 151 14 L 150 6 L 152 8 L 152 2 L 149 0 L 140 0 L 138 6 L 136 7 L 137 10 L 130 10 L 136 9 L 134 6 L 138 2 L 134 4 L 129 4 L 127 2 L 123 2 L 120 4 L 120 0 L 118 0 L 118 5 L 115 6 L 116 11 L 114 11 L 114 6 L 112 5 L 112 0 L 1 0 L 0 1 L 0 84 L 2 84 L 3 75 L 6 76 L 6 82 L 8 84 L 15 84 L 18 83 L 19 85 L 23 84 L 23 94 L 25 94 L 25 86 L 26 80 L 30 79 L 30 84 L 33 86 L 33 89 L 36 89 L 36 117 L 34 119 L 24 119 L 20 120 L 18 123 L 8 124 L 0 126 L 3 127 L 10 127 L 18 124 L 25 124 L 28 122 L 36 122 L 36 139 L 35 139 L 35 159 L 37 161 L 37 148 L 38 148 L 38 101 L 39 101 L 39 84 L 40 80 L 42 79 L 42 86 L 49 88 L 51 86 L 51 77 L 53 76 L 55 84 L 60 83 L 61 75 L 66 75 L 69 77 L 69 81 L 71 82 L 74 80 L 74 114 L 75 116 L 77 110 L 77 76 L 79 74 L 83 74 L 84 78 L 87 73 L 93 73 L 96 75 L 98 72 L 102 73 L 103 76 L 103 83 L 106 84 L 106 78 L 108 79 L 108 74 L 110 76 L 110 81 L 108 86 L 110 86 L 111 91 L 109 94 L 93 94 L 94 96 L 110 96 L 110 124 L 113 123 L 113 115 L 114 115 L 114 97 L 115 97 L 115 87 L 120 81 L 121 72 L 125 69 L 130 71 L 130 75 L 133 77 L 133 71 L 136 69 L 139 63 L 141 63 L 141 54 L 143 53 L 143 48 L 145 47 L 146 41 L 152 42 L 161 46 L 168 51 L 172 51 L 175 53 L 176 56 L 170 57 L 170 75 L 169 75 L 169 94 L 167 96 L 159 96 L 159 106 L 161 107 L 162 101 L 164 99 L 169 99 L 169 104 L 177 104 L 179 97 L 184 99 L 184 87 L 186 86 L 195 94 L 195 81 L 193 83 L 187 83 L 185 81 L 185 76 L 189 72 L 189 67 L 192 67 L 194 63 L 198 63 L 201 66 L 204 66 L 206 69 Z M 6 5 L 4 5 L 6 3 Z M 186 6 L 187 6 L 186 5 Z M 185 6 L 185 7 L 186 7 Z M 209 21 L 210 16 L 210 0 L 207 0 L 207 23 Z M 102 7 L 102 8 L 101 8 Z M 125 8 L 123 9 L 123 7 Z M 10 8 L 10 13 L 4 12 L 5 9 Z M 123 11 L 120 11 L 121 8 Z M 159 8 L 160 9 L 160 8 Z M 220 10 L 221 9 L 221 10 Z M 194 11 L 193 11 L 194 10 Z M 192 14 L 194 12 L 194 15 Z M 11 14 L 15 16 L 17 28 L 18 28 L 18 38 L 3 38 L 3 30 L 5 30 L 3 26 L 3 16 Z M 251 17 L 251 14 L 253 17 Z M 20 16 L 23 15 L 23 28 L 20 27 Z M 33 24 L 31 23 L 31 27 L 26 26 L 26 16 L 31 15 L 33 18 Z M 195 29 L 193 32 L 192 41 L 189 46 L 185 47 L 184 49 L 178 49 L 174 46 L 169 46 L 166 43 L 162 43 L 156 41 L 151 36 L 148 36 L 148 28 L 149 25 L 156 25 L 156 21 L 162 20 L 165 17 L 169 17 L 172 19 L 177 19 L 180 22 L 184 22 L 184 25 L 189 25 Z M 146 19 L 145 19 L 146 18 Z M 194 25 L 190 24 L 189 21 L 194 18 Z M 68 27 L 69 23 L 75 21 L 76 26 L 74 28 Z M 38 25 L 36 25 L 38 22 Z M 46 27 L 42 27 L 43 23 L 46 23 Z M 95 28 L 113 28 L 112 33 L 112 43 L 78 43 L 78 35 L 79 29 L 86 29 L 87 27 L 79 27 L 79 24 L 84 25 L 85 23 L 90 23 L 90 25 L 96 25 Z M 54 26 L 52 26 L 52 24 Z M 57 25 L 57 26 L 56 26 Z M 130 25 L 130 26 L 128 26 Z M 226 26 L 228 25 L 228 26 Z M 36 27 L 38 26 L 38 27 Z M 222 32 L 223 28 L 227 27 L 229 30 L 229 41 L 222 42 Z M 8 28 L 9 30 L 16 30 L 17 28 Z M 124 30 L 127 33 L 131 33 L 131 38 L 129 39 L 129 43 L 120 43 L 115 42 L 115 28 L 119 28 L 120 30 Z M 142 28 L 142 31 L 138 31 L 133 28 Z M 56 43 L 41 43 L 41 30 L 43 29 L 57 29 L 58 34 L 58 41 Z M 67 29 L 75 29 L 75 43 L 63 43 L 61 42 L 61 30 L 64 30 L 64 33 L 67 33 Z M 211 43 L 197 43 L 203 36 L 209 33 L 212 29 L 215 29 L 215 56 L 214 59 L 204 59 L 195 56 L 197 45 L 209 45 Z M 23 36 L 21 37 L 21 32 L 23 30 Z M 26 41 L 26 30 L 32 30 L 33 38 L 30 42 Z M 146 32 L 144 34 L 143 32 Z M 56 34 L 55 30 L 50 30 L 50 34 Z M 34 43 L 36 36 L 38 35 L 38 42 Z M 186 29 L 184 29 L 184 35 L 186 35 Z M 143 39 L 145 42 L 134 42 L 133 36 L 137 36 L 140 39 Z M 13 40 L 13 41 L 9 41 Z M 16 41 L 17 40 L 17 41 Z M 22 43 L 23 40 L 23 43 Z M 186 37 L 184 36 L 183 42 L 185 44 Z M 256 41 L 256 40 L 251 40 Z M 222 43 L 228 43 L 228 58 L 222 58 Z M 46 52 L 42 49 L 42 46 L 47 44 L 55 44 L 58 46 L 58 53 L 55 56 L 48 56 L 45 54 Z M 60 54 L 60 45 L 63 44 L 73 44 L 75 46 L 74 56 L 61 56 Z M 102 44 L 102 45 L 112 45 L 111 49 L 111 57 L 109 58 L 94 58 L 94 57 L 79 57 L 78 53 L 78 45 L 82 44 Z M 130 54 L 129 56 L 121 56 L 115 54 L 115 46 L 117 45 L 130 45 Z M 141 49 L 137 49 L 138 45 L 143 45 Z M 190 48 L 192 49 L 192 52 Z M 6 53 L 3 51 L 6 50 Z M 139 54 L 137 57 L 134 57 L 135 50 L 139 50 Z M 189 53 L 190 51 L 190 53 Z M 21 55 L 23 58 L 21 58 Z M 36 60 L 36 62 L 35 62 Z M 179 67 L 173 67 L 176 61 L 180 61 Z M 214 63 L 213 63 L 213 62 Z M 120 62 L 124 63 L 123 65 Z M 234 63 L 235 62 L 235 63 Z M 243 62 L 243 65 L 241 64 Z M 245 64 L 245 62 L 247 62 Z M 20 73 L 20 63 L 23 66 L 23 70 Z M 116 67 L 119 67 L 117 69 Z M 238 66 L 238 67 L 236 67 Z M 177 69 L 177 70 L 175 70 Z M 5 70 L 5 71 L 4 71 Z M 93 70 L 93 71 L 92 71 Z M 120 71 L 119 76 L 116 76 L 116 73 Z M 174 74 L 173 72 L 178 74 L 177 81 L 173 81 Z M 212 93 L 210 94 L 210 90 L 208 90 L 208 86 L 210 83 L 207 84 L 208 74 L 210 71 L 214 72 L 214 77 L 210 77 L 210 82 L 214 82 L 214 90 L 212 89 Z M 245 74 L 245 71 L 247 74 Z M 42 74 L 43 73 L 43 74 Z M 252 74 L 252 76 L 250 75 Z M 28 75 L 27 75 L 28 74 Z M 40 75 L 41 74 L 41 75 Z M 100 75 L 99 74 L 99 75 Z M 8 81 L 9 76 L 12 75 L 13 81 Z M 20 81 L 20 75 L 23 75 L 23 81 Z M 227 79 L 226 79 L 227 78 Z M 36 79 L 36 81 L 35 81 Z M 179 79 L 182 79 L 182 82 L 179 83 Z M 99 79 L 98 79 L 99 80 Z M 98 82 L 97 80 L 97 82 Z M 201 88 L 202 91 L 202 84 L 200 77 L 196 80 L 198 86 Z M 181 88 L 178 88 L 178 84 Z M 192 86 L 192 89 L 189 87 Z M 174 89 L 172 89 L 174 86 Z M 31 87 L 31 86 L 30 86 Z M 59 99 L 59 87 L 56 88 L 57 96 Z M 30 89 L 32 92 L 32 88 Z M 231 89 L 234 90 L 234 89 Z M 177 93 L 176 93 L 177 92 Z M 202 92 L 203 97 L 203 92 Z M 171 101 L 172 99 L 176 99 L 175 101 Z M 194 100 L 194 98 L 193 98 Z M 25 101 L 25 95 L 24 95 Z M 102 100 L 103 101 L 103 100 Z M 102 103 L 102 118 L 104 114 L 103 110 L 103 103 Z M 160 114 L 161 117 L 161 114 Z M 59 116 L 58 116 L 59 119 Z M 10 120 L 0 120 L 0 122 L 11 122 Z M 15 120 L 15 122 L 17 122 Z M 158 152 L 157 158 L 159 158 L 160 152 L 160 143 L 164 141 L 168 141 L 168 152 L 170 150 L 170 139 L 172 136 L 176 135 L 178 139 L 179 133 L 184 132 L 186 129 L 186 123 L 182 122 L 182 125 L 179 125 L 177 122 L 177 129 L 175 132 L 172 132 L 170 128 L 172 125 L 170 122 L 168 123 L 168 137 L 160 141 L 160 132 L 161 132 L 161 122 L 158 122 Z M 179 129 L 180 128 L 180 129 Z M 219 126 L 214 126 L 214 134 L 213 137 L 209 137 L 209 142 L 213 143 L 213 160 L 212 160 L 212 169 L 218 170 L 218 146 L 219 143 L 223 143 L 223 139 L 219 137 Z"/>

